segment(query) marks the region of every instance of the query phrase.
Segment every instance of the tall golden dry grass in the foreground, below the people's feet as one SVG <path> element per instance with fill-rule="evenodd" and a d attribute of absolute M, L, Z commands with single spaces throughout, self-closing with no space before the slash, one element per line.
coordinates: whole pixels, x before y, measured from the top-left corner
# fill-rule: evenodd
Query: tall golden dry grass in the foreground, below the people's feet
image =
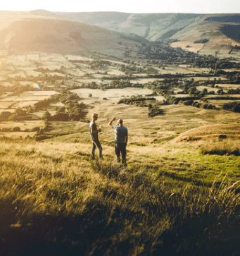
<path fill-rule="evenodd" d="M 171 183 L 78 146 L 1 142 L 1 255 L 239 252 L 238 183 Z"/>

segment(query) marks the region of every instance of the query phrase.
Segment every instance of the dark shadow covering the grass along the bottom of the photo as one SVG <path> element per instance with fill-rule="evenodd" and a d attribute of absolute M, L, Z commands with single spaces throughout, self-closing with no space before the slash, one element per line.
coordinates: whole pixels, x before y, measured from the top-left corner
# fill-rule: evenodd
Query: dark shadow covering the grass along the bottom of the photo
<path fill-rule="evenodd" d="M 10 208 L 11 205 L 9 205 Z M 240 221 L 208 212 L 182 219 L 159 233 L 156 226 L 141 224 L 141 214 L 122 214 L 119 209 L 108 219 L 108 207 L 96 202 L 82 215 L 35 214 L 23 224 L 11 225 L 15 217 L 1 218 L 1 255 L 239 255 Z M 8 212 L 9 213 L 9 212 Z M 29 222 L 28 222 L 29 221 Z M 160 221 L 160 219 L 159 219 Z M 135 224 L 134 224 L 135 222 Z M 151 222 L 151 221 L 150 221 Z M 125 224 L 129 233 L 122 236 Z"/>

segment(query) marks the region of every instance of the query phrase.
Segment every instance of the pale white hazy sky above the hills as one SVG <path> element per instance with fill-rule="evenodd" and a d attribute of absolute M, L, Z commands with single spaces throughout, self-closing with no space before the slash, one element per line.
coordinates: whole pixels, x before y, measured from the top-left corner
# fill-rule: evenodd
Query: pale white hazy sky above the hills
<path fill-rule="evenodd" d="M 239 0 L 5 0 L 0 11 L 84 12 L 119 11 L 123 13 L 240 13 Z"/>

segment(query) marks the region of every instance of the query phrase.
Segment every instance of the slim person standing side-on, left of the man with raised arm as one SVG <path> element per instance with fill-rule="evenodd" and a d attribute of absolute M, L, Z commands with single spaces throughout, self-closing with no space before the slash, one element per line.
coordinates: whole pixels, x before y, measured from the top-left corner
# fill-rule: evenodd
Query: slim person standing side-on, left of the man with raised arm
<path fill-rule="evenodd" d="M 99 132 L 101 132 L 101 128 L 96 128 L 95 121 L 98 120 L 99 115 L 97 113 L 91 114 L 91 122 L 89 123 L 90 129 L 90 137 L 92 141 L 92 149 L 91 149 L 91 159 L 95 159 L 95 150 L 96 147 L 99 149 L 99 157 L 103 159 L 103 148 L 101 147 L 101 143 L 99 141 Z"/>

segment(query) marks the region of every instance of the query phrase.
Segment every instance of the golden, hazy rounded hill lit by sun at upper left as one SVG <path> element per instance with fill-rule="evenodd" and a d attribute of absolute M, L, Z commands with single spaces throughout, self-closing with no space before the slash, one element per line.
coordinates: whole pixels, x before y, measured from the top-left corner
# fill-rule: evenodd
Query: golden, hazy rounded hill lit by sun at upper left
<path fill-rule="evenodd" d="M 11 53 L 44 51 L 61 54 L 82 51 L 118 51 L 136 42 L 120 32 L 63 18 L 34 15 L 6 16 L 0 25 L 0 47 Z M 119 45 L 121 42 L 122 47 Z"/>

